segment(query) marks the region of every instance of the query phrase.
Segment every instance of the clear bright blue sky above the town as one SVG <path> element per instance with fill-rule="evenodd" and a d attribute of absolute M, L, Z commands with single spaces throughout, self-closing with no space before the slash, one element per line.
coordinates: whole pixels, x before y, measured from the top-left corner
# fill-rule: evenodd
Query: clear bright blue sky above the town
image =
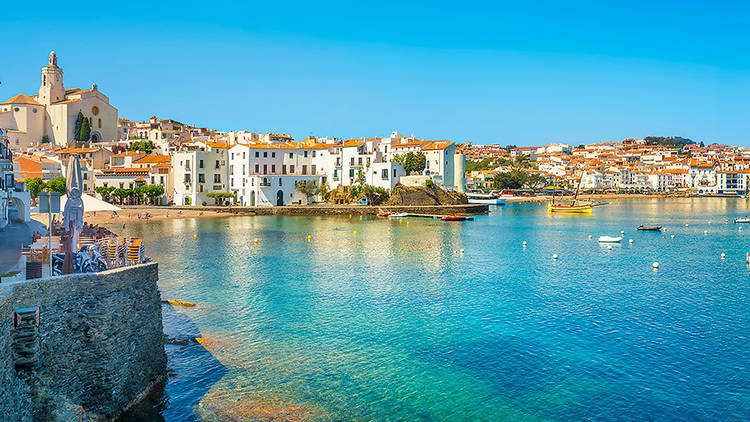
<path fill-rule="evenodd" d="M 750 146 L 748 2 L 57 3 L 4 6 L 3 100 L 55 50 L 67 87 L 96 82 L 132 120 Z"/>

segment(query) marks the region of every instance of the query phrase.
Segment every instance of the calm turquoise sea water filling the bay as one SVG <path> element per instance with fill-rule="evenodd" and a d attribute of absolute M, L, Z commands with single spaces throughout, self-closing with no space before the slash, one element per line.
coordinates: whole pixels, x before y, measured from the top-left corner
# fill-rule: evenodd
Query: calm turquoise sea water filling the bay
<path fill-rule="evenodd" d="M 731 219 L 749 213 L 654 199 L 142 224 L 128 234 L 162 297 L 198 304 L 165 305 L 166 333 L 205 348 L 167 345 L 156 410 L 127 419 L 748 420 L 750 225 Z"/>

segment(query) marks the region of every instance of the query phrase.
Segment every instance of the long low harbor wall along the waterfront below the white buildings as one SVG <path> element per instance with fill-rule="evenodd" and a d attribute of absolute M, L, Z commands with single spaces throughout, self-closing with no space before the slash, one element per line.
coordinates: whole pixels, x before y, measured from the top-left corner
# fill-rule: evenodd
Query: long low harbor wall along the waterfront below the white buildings
<path fill-rule="evenodd" d="M 241 213 L 255 215 L 377 215 L 385 210 L 390 212 L 406 212 L 410 214 L 456 215 L 456 214 L 484 214 L 489 212 L 486 204 L 460 205 L 290 205 L 284 207 L 238 207 L 238 206 L 125 206 L 133 209 L 174 209 L 179 210 Z"/>

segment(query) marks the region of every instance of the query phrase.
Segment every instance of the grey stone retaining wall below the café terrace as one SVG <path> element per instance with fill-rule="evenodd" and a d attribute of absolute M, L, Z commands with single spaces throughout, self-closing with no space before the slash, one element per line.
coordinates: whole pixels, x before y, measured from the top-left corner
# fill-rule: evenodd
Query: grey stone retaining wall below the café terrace
<path fill-rule="evenodd" d="M 151 263 L 0 284 L 0 418 L 110 419 L 160 381 L 167 357 L 157 280 Z M 12 313 L 28 306 L 40 310 L 39 359 L 16 369 Z"/>

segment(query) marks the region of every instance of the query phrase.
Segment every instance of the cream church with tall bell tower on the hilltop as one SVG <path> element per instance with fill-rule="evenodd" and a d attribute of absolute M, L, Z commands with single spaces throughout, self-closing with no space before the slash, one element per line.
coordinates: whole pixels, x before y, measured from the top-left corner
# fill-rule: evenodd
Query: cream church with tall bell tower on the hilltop
<path fill-rule="evenodd" d="M 10 147 L 15 150 L 44 142 L 67 146 L 75 139 L 79 112 L 89 121 L 89 142 L 118 139 L 117 109 L 109 104 L 109 98 L 96 84 L 90 89 L 66 89 L 53 51 L 49 64 L 42 68 L 37 94 L 19 94 L 0 103 L 0 128 L 7 130 Z"/>

